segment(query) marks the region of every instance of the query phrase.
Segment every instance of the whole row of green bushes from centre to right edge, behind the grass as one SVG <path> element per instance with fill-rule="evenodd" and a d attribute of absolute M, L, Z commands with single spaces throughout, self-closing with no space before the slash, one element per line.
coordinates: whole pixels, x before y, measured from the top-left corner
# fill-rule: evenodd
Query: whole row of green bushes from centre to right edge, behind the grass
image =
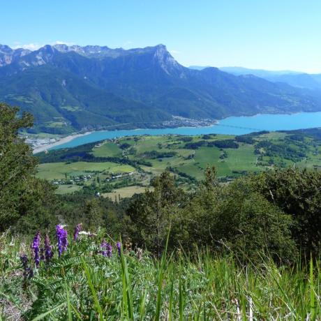
<path fill-rule="evenodd" d="M 169 174 L 153 186 L 130 201 L 127 232 L 154 253 L 170 225 L 170 248 L 228 249 L 244 262 L 259 262 L 262 253 L 292 262 L 302 250 L 320 251 L 320 172 L 271 171 L 221 186 L 212 168 L 194 194 L 179 191 Z"/>

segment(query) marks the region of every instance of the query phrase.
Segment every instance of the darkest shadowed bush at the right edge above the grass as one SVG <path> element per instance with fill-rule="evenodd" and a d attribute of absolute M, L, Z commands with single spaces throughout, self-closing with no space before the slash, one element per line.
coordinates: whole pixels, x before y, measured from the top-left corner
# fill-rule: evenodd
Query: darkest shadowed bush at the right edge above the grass
<path fill-rule="evenodd" d="M 257 190 L 292 216 L 292 235 L 309 257 L 321 250 L 321 172 L 316 170 L 277 170 L 254 179 Z"/>

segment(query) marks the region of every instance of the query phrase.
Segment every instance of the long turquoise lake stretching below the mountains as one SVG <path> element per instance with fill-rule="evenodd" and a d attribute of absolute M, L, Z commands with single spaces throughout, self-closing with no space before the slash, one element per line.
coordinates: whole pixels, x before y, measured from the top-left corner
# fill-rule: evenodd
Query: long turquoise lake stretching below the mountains
<path fill-rule="evenodd" d="M 132 135 L 200 135 L 210 133 L 244 135 L 260 130 L 293 130 L 314 127 L 321 127 L 321 112 L 300 112 L 297 114 L 257 114 L 249 117 L 228 117 L 221 119 L 217 125 L 207 127 L 100 130 L 92 132 L 89 135 L 76 137 L 74 140 L 52 147 L 52 149 L 76 147 L 89 142 L 98 142 L 99 140 Z"/>

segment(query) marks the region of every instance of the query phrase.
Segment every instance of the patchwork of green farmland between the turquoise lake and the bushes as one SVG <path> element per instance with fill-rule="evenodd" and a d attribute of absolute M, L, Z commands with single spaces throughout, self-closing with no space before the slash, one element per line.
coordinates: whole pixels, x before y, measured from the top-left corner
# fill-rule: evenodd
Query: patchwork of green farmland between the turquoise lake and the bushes
<path fill-rule="evenodd" d="M 105 197 L 131 197 L 169 170 L 182 188 L 193 189 L 204 170 L 215 166 L 218 179 L 278 167 L 321 168 L 321 140 L 316 132 L 262 132 L 232 135 L 162 135 L 121 137 L 72 149 L 38 154 L 37 176 L 52 181 L 57 193 L 91 186 Z M 90 176 L 90 177 L 89 177 Z M 77 185 L 77 187 L 75 187 Z"/>

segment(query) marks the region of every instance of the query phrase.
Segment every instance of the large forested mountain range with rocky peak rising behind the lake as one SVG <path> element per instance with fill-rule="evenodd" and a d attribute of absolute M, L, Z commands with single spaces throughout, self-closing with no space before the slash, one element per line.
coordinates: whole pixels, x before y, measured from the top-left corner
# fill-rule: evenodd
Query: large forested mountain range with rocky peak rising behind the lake
<path fill-rule="evenodd" d="M 0 101 L 32 112 L 34 130 L 47 133 L 146 127 L 172 116 L 320 111 L 316 89 L 235 70 L 186 68 L 165 45 L 45 45 L 36 51 L 0 45 Z"/>

